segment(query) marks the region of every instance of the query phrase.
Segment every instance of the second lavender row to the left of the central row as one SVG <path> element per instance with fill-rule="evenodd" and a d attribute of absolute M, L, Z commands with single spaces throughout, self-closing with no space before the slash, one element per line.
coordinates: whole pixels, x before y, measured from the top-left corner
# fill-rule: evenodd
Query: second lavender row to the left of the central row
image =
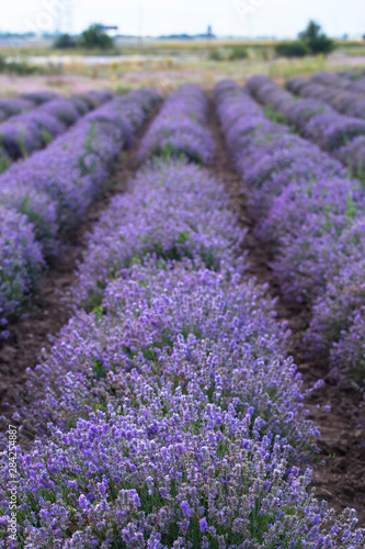
<path fill-rule="evenodd" d="M 12 160 L 44 148 L 65 133 L 81 115 L 112 99 L 111 92 L 89 92 L 70 99 L 57 98 L 0 123 L 0 171 Z"/>

